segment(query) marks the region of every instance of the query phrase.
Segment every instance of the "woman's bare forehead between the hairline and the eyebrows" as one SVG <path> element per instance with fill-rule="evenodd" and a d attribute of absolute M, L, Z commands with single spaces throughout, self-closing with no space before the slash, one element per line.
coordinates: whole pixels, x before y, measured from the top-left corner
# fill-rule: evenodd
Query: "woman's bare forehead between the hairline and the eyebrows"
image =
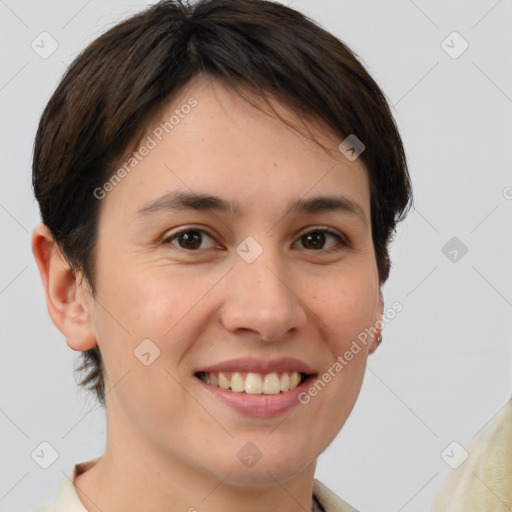
<path fill-rule="evenodd" d="M 336 193 L 369 218 L 364 164 L 338 150 L 335 134 L 272 101 L 286 121 L 307 127 L 326 153 L 260 98 L 244 95 L 259 108 L 220 80 L 194 77 L 161 109 L 136 153 L 125 155 L 123 179 L 104 202 L 135 214 L 165 194 L 187 192 L 225 198 L 240 215 L 258 206 L 278 214 L 290 210 L 293 200 Z"/>

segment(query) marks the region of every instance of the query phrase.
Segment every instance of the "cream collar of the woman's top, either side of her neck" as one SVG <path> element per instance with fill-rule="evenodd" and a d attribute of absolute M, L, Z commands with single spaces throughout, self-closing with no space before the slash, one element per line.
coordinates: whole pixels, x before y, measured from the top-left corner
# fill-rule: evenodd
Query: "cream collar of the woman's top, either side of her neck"
<path fill-rule="evenodd" d="M 73 485 L 75 477 L 84 471 L 90 469 L 99 460 L 93 459 L 87 462 L 75 464 L 69 477 L 61 483 L 55 500 L 53 503 L 46 503 L 36 508 L 34 512 L 87 512 L 83 506 L 75 486 Z M 334 494 L 328 487 L 323 485 L 318 480 L 313 482 L 313 495 L 318 501 L 320 508 L 315 508 L 317 512 L 357 512 L 348 503 L 345 503 L 336 494 Z"/>

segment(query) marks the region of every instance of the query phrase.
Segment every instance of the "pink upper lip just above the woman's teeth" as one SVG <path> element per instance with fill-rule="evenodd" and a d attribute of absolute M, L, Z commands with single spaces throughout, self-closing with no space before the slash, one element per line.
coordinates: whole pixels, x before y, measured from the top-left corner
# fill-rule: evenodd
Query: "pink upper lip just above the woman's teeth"
<path fill-rule="evenodd" d="M 294 357 L 282 357 L 280 359 L 273 359 L 264 361 L 254 358 L 238 358 L 230 359 L 222 363 L 217 363 L 211 366 L 197 368 L 194 373 L 198 372 L 245 372 L 245 373 L 273 373 L 273 372 L 299 372 L 307 373 L 309 375 L 316 373 L 314 368 L 295 359 Z"/>

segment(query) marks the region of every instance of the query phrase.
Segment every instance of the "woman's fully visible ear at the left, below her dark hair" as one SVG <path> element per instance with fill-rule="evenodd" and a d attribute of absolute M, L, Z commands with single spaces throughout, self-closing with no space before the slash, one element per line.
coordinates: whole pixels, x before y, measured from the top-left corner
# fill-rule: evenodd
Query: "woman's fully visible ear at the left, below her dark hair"
<path fill-rule="evenodd" d="M 53 323 L 73 350 L 93 348 L 97 340 L 90 321 L 92 296 L 79 284 L 80 276 L 75 278 L 44 224 L 39 224 L 32 232 L 32 252 L 41 274 L 46 306 Z"/>

